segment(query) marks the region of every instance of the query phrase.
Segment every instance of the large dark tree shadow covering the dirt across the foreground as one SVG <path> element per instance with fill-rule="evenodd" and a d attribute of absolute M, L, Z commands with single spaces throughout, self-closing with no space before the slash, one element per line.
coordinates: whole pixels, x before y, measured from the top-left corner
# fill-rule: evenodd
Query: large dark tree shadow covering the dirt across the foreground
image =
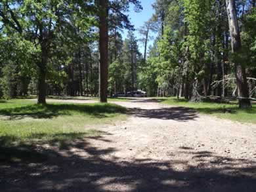
<path fill-rule="evenodd" d="M 100 140 L 98 148 L 90 140 Z M 247 191 L 256 189 L 256 162 L 181 147 L 190 161 L 118 159 L 104 137 L 77 140 L 68 148 L 33 147 L 25 160 L 1 161 L 1 191 Z M 28 147 L 28 146 L 27 146 Z M 2 149 L 1 149 L 2 150 Z M 24 154 L 24 146 L 9 153 Z M 79 153 L 77 153 L 79 151 Z M 43 155 L 43 158 L 40 158 Z M 104 157 L 112 158 L 104 158 Z M 40 161 L 38 160 L 39 157 Z M 210 160 L 209 160 L 210 159 Z M 177 168 L 181 166 L 182 168 Z"/>

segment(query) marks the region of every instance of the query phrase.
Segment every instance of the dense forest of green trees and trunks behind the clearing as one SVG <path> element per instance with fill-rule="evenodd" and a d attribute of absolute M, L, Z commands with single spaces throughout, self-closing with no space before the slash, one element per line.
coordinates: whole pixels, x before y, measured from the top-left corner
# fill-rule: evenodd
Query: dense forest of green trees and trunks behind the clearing
<path fill-rule="evenodd" d="M 234 97 L 250 106 L 255 0 L 156 0 L 154 15 L 139 29 L 129 22 L 131 5 L 142 9 L 137 0 L 1 1 L 0 96 L 37 94 L 44 103 L 50 95 L 141 89 L 193 101 Z"/>

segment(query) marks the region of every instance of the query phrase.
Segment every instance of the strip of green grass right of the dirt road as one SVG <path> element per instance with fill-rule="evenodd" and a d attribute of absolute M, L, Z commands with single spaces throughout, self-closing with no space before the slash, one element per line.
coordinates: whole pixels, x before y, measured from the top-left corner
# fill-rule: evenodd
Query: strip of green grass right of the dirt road
<path fill-rule="evenodd" d="M 163 104 L 171 106 L 188 107 L 195 109 L 200 113 L 214 115 L 215 117 L 239 121 L 242 123 L 256 123 L 256 104 L 251 109 L 240 109 L 238 104 L 230 102 L 230 104 L 219 104 L 213 102 L 188 102 L 184 99 L 177 98 L 158 98 Z"/>

